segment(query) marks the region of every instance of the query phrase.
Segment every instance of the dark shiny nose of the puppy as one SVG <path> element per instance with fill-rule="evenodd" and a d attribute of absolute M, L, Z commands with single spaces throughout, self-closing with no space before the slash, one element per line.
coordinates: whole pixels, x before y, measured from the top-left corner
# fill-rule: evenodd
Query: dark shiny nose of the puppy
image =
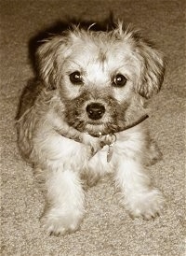
<path fill-rule="evenodd" d="M 87 105 L 86 112 L 89 119 L 99 120 L 105 112 L 105 107 L 100 103 L 91 103 Z"/>

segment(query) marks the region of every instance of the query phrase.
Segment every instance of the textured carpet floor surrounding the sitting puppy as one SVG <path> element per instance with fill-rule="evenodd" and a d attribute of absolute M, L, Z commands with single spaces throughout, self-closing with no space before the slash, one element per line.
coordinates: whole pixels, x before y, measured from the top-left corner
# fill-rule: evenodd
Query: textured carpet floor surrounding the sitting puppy
<path fill-rule="evenodd" d="M 50 0 L 1 1 L 1 255 L 185 255 L 184 244 L 184 1 Z M 14 119 L 22 89 L 33 69 L 28 42 L 59 19 L 100 21 L 113 10 L 153 37 L 166 53 L 163 90 L 151 102 L 151 133 L 164 159 L 151 168 L 166 196 L 154 221 L 131 220 L 117 204 L 113 184 L 101 181 L 86 195 L 86 218 L 73 235 L 43 234 L 39 217 L 44 201 L 33 172 L 17 149 Z"/>

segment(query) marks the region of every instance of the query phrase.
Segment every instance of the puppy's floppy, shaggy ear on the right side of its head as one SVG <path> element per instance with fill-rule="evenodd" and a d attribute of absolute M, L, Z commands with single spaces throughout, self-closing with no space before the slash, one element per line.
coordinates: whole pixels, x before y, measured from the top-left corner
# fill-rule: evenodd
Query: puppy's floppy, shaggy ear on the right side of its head
<path fill-rule="evenodd" d="M 163 54 L 156 50 L 153 44 L 140 39 L 137 45 L 140 61 L 140 79 L 136 91 L 146 99 L 159 92 L 165 75 L 165 60 Z"/>

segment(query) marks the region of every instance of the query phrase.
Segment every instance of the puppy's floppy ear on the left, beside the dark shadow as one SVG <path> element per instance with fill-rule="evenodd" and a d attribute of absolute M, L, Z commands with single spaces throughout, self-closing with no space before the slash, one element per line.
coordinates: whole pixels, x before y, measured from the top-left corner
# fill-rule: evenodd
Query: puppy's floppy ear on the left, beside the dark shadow
<path fill-rule="evenodd" d="M 59 64 L 63 58 L 66 45 L 65 37 L 54 36 L 47 39 L 36 52 L 37 72 L 47 90 L 55 90 L 58 84 Z"/>

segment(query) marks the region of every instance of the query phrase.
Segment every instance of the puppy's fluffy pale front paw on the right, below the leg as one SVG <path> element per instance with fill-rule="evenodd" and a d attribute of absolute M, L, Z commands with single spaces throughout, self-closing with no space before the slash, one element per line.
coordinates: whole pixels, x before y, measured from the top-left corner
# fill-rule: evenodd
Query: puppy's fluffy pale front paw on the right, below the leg
<path fill-rule="evenodd" d="M 160 215 L 164 204 L 165 199 L 157 190 L 135 192 L 127 198 L 126 209 L 132 218 L 142 217 L 144 220 L 151 220 Z"/>

